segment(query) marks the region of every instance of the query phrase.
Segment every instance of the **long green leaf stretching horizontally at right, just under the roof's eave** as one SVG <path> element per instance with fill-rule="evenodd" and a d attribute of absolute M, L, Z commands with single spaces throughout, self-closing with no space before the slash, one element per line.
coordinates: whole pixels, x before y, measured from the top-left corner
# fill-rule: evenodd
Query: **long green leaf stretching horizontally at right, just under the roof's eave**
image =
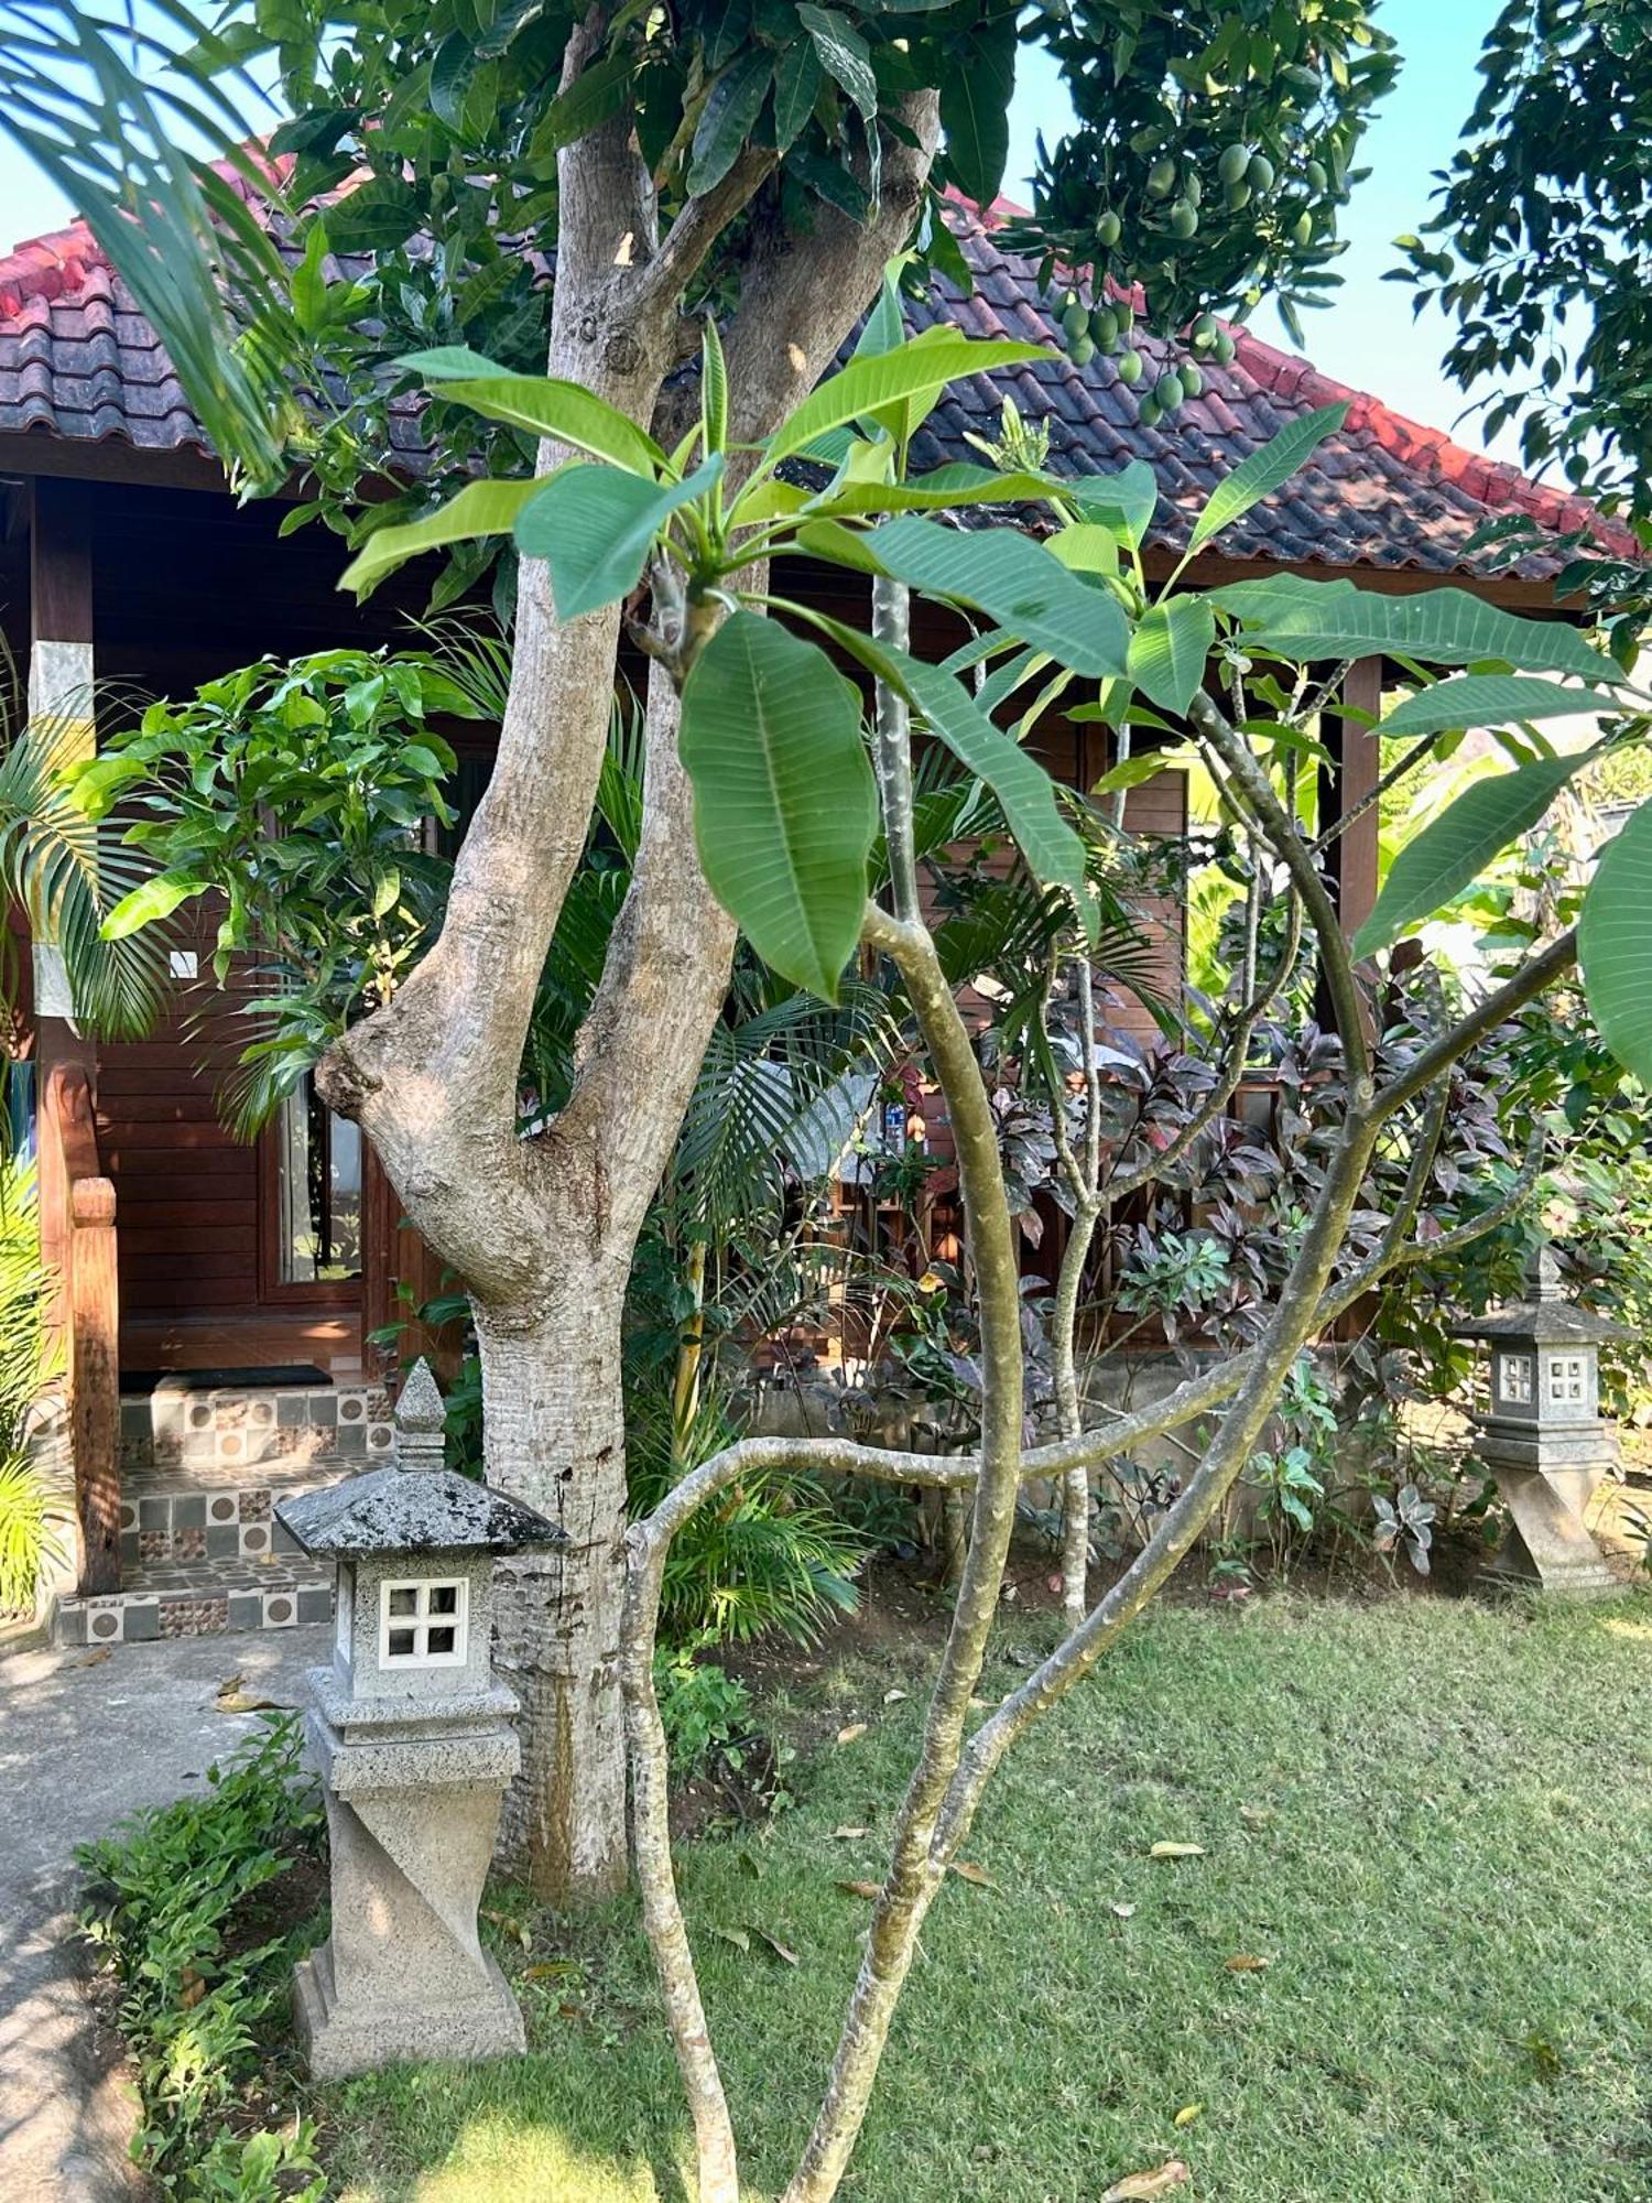
<path fill-rule="evenodd" d="M 1383 597 L 1352 582 L 1306 582 L 1282 573 L 1267 582 L 1231 582 L 1209 601 L 1245 621 L 1242 641 L 1282 659 L 1374 659 L 1394 652 L 1425 665 L 1474 665 L 1502 659 L 1526 672 L 1582 674 L 1610 681 L 1610 663 L 1555 619 L 1518 619 L 1465 588 L 1425 588 L 1416 597 Z"/>

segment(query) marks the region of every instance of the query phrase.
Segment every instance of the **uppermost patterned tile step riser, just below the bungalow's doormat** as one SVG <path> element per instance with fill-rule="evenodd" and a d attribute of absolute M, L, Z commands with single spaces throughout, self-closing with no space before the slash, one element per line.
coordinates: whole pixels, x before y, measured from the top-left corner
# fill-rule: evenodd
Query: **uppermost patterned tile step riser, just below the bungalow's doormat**
<path fill-rule="evenodd" d="M 167 1392 L 121 1399 L 121 1472 L 134 1485 L 249 1483 L 249 1467 L 302 1476 L 311 1463 L 361 1467 L 390 1452 L 381 1386 L 326 1392 Z"/>

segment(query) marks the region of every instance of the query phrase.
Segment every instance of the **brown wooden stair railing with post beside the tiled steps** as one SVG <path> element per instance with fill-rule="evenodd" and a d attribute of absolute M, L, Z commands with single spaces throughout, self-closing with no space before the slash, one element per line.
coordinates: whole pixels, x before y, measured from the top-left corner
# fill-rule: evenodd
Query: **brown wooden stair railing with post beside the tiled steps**
<path fill-rule="evenodd" d="M 81 1591 L 121 1586 L 121 1361 L 115 1185 L 97 1154 L 84 1064 L 53 1064 L 40 1095 L 40 1245 L 57 1273 L 55 1326 L 75 1447 Z"/>

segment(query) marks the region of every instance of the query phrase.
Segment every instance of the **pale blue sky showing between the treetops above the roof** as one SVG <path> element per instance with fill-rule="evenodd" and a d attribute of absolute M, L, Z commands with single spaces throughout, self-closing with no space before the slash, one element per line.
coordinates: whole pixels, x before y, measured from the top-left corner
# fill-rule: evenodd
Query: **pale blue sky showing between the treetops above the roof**
<path fill-rule="evenodd" d="M 1474 73 L 1480 42 L 1498 15 L 1500 0 L 1383 0 L 1381 22 L 1399 40 L 1408 66 L 1396 90 L 1379 108 L 1366 137 L 1363 159 L 1372 174 L 1344 209 L 1348 253 L 1339 262 L 1344 289 L 1326 313 L 1306 317 L 1308 357 L 1326 375 L 1372 390 L 1396 412 L 1432 427 L 1452 427 L 1463 397 L 1441 375 L 1445 324 L 1438 317 L 1412 322 L 1410 295 L 1385 284 L 1394 264 L 1392 238 L 1419 229 L 1427 218 L 1430 172 L 1441 167 L 1474 104 Z M 1059 75 L 1042 53 L 1022 53 L 1015 90 L 1009 196 L 1024 196 L 1033 165 L 1033 134 L 1057 137 L 1068 108 Z M 0 139 L 0 249 L 57 229 L 68 205 Z M 1278 315 L 1264 308 L 1258 333 L 1293 350 Z M 1480 445 L 1476 419 L 1456 425 L 1463 443 Z M 1511 438 L 1496 445 L 1513 456 Z"/>

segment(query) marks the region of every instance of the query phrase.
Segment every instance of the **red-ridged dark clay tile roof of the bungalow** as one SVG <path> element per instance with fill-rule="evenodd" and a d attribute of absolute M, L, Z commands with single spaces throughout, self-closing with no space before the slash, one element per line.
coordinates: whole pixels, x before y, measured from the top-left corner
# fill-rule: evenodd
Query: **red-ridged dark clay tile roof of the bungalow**
<path fill-rule="evenodd" d="M 907 308 L 910 324 L 947 319 L 971 335 L 1055 341 L 1055 319 L 1037 289 L 1035 267 L 998 247 L 993 216 L 956 207 L 954 227 L 976 293 L 965 300 L 941 284 L 932 302 Z M 1236 339 L 1233 363 L 1209 366 L 1205 392 L 1159 427 L 1141 425 L 1137 397 L 1101 355 L 1082 370 L 1055 357 L 993 377 L 969 377 L 954 383 L 930 416 L 914 458 L 923 467 L 971 458 L 965 434 L 991 436 L 1004 392 L 1013 392 L 1024 419 L 1048 421 L 1057 471 L 1110 474 L 1145 458 L 1163 491 L 1156 540 L 1176 544 L 1185 535 L 1185 513 L 1198 509 L 1247 452 L 1295 414 L 1346 399 L 1346 427 L 1319 445 L 1284 491 L 1227 531 L 1227 555 L 1463 573 L 1476 564 L 1463 549 L 1469 535 L 1504 511 L 1524 511 L 1555 533 L 1593 524 L 1604 544 L 1632 555 L 1628 533 L 1601 522 L 1586 500 L 1401 419 L 1379 399 L 1333 383 L 1306 359 L 1280 352 L 1249 330 L 1236 330 Z M 1152 363 L 1161 346 L 1145 339 L 1143 350 Z M 1139 390 L 1152 388 L 1152 381 L 1154 366 Z M 405 430 L 414 458 L 416 427 L 407 421 Z M 207 452 L 170 359 L 84 223 L 0 258 L 0 436 L 13 434 L 75 443 L 119 438 L 148 452 Z M 396 441 L 403 443 L 403 436 Z M 1535 553 L 1518 571 L 1544 579 L 1557 568 L 1557 557 Z"/>

